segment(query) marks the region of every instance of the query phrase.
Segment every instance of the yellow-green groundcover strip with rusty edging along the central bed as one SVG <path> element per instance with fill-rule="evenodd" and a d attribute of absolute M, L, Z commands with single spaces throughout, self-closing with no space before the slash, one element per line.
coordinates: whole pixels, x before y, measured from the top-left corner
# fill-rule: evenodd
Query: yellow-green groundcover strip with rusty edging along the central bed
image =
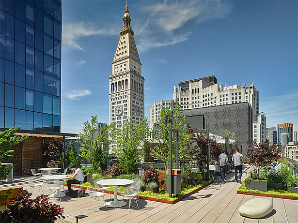
<path fill-rule="evenodd" d="M 183 198 L 196 193 L 198 191 L 200 191 L 201 189 L 203 189 L 204 187 L 210 185 L 211 183 L 213 183 L 214 180 L 211 181 L 204 181 L 202 184 L 197 185 L 197 186 L 190 186 L 188 185 L 188 189 L 184 188 L 182 190 L 181 193 L 177 194 L 177 195 L 173 195 L 173 197 L 169 197 L 169 194 L 166 193 L 164 190 L 160 190 L 159 193 L 153 193 L 153 192 L 149 192 L 149 191 L 144 191 L 144 192 L 139 192 L 138 196 L 141 199 L 144 200 L 149 200 L 149 201 L 157 201 L 157 202 L 162 202 L 162 203 L 167 203 L 167 204 L 175 204 L 178 201 L 182 200 Z M 66 186 L 66 184 L 64 183 L 64 185 Z M 86 186 L 89 186 L 88 183 L 84 183 L 81 185 L 82 189 L 87 189 Z M 79 188 L 78 185 L 74 185 L 74 188 Z M 113 192 L 114 188 L 110 189 L 110 193 L 114 194 Z M 117 187 L 117 194 L 119 195 L 120 193 L 125 192 L 125 189 L 123 189 L 122 187 Z M 109 193 L 108 191 L 105 191 L 105 193 Z"/>

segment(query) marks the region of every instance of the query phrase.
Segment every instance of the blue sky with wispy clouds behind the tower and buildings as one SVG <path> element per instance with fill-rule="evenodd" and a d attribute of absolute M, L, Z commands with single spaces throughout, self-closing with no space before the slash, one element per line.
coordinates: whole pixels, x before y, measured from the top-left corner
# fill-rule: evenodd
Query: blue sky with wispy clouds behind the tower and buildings
<path fill-rule="evenodd" d="M 128 0 L 145 78 L 145 116 L 178 82 L 253 82 L 267 127 L 298 131 L 297 0 Z M 61 132 L 109 122 L 109 75 L 125 0 L 63 0 Z"/>

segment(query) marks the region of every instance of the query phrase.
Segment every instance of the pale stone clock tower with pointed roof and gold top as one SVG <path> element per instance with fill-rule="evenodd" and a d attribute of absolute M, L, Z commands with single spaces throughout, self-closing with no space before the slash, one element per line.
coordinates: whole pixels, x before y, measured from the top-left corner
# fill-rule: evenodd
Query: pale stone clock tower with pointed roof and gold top
<path fill-rule="evenodd" d="M 131 114 L 137 122 L 144 119 L 144 77 L 141 61 L 130 27 L 127 1 L 123 16 L 123 29 L 112 61 L 109 76 L 109 122 L 125 123 Z"/>

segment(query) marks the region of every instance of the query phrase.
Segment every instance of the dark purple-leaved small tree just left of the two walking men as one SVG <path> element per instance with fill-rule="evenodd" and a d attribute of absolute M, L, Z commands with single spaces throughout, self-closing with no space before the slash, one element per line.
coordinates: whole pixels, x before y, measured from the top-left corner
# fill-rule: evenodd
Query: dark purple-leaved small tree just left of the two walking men
<path fill-rule="evenodd" d="M 191 150 L 191 155 L 196 158 L 200 171 L 204 171 L 204 168 L 207 164 L 208 140 L 206 135 L 197 135 L 195 138 L 193 138 L 193 144 L 195 144 L 195 146 Z"/>

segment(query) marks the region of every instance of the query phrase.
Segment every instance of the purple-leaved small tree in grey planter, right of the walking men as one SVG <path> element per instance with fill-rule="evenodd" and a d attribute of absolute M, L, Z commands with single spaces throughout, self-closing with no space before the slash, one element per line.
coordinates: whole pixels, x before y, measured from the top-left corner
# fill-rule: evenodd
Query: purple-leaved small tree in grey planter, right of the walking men
<path fill-rule="evenodd" d="M 245 180 L 247 189 L 267 192 L 267 179 L 260 178 L 264 167 L 271 164 L 280 155 L 281 149 L 278 145 L 269 145 L 269 141 L 263 143 L 252 142 L 246 152 L 248 163 L 254 168 L 255 175 Z"/>

